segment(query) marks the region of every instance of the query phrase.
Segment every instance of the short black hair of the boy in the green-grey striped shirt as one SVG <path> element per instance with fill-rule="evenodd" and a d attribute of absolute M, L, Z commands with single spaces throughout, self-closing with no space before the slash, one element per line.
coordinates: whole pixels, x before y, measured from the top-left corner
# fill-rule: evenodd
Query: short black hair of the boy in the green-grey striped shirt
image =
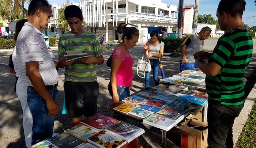
<path fill-rule="evenodd" d="M 68 20 L 68 18 L 79 18 L 82 21 L 83 18 L 81 9 L 76 5 L 69 5 L 66 7 L 64 15 L 66 20 Z"/>

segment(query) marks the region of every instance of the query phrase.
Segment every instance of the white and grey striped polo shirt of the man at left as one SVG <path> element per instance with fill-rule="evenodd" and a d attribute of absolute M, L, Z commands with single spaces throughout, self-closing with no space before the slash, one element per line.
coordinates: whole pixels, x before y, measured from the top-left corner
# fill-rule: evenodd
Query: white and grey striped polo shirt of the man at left
<path fill-rule="evenodd" d="M 16 42 L 16 54 L 19 79 L 28 86 L 33 86 L 26 75 L 26 62 L 39 61 L 38 71 L 44 84 L 53 85 L 59 81 L 54 62 L 45 44 L 42 34 L 33 24 L 25 23 Z"/>

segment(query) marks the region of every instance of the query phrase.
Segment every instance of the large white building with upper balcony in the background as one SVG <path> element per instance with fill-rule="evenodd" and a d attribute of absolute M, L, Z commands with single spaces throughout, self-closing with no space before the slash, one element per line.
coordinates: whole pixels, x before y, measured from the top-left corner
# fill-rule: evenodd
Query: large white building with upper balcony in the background
<path fill-rule="evenodd" d="M 135 26 L 140 31 L 139 42 L 147 41 L 147 27 L 167 27 L 167 31 L 172 32 L 177 24 L 177 18 L 174 17 L 177 7 L 162 3 L 161 0 L 82 0 L 82 10 L 86 26 L 98 27 L 100 34 L 106 34 L 108 14 L 106 37 L 109 40 L 120 40 L 121 35 L 116 31 L 119 23 Z"/>

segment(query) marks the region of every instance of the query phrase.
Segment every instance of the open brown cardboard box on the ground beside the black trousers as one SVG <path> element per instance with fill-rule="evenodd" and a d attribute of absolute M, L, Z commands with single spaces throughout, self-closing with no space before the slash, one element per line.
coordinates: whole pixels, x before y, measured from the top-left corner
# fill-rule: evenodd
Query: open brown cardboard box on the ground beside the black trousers
<path fill-rule="evenodd" d="M 182 122 L 181 148 L 207 148 L 207 123 L 191 118 Z"/>

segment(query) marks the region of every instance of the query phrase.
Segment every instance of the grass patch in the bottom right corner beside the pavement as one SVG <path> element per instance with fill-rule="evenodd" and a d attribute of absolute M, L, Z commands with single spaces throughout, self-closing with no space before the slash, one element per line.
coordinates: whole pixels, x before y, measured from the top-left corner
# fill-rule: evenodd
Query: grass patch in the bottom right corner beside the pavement
<path fill-rule="evenodd" d="M 256 148 L 256 103 L 238 138 L 237 148 Z"/>

